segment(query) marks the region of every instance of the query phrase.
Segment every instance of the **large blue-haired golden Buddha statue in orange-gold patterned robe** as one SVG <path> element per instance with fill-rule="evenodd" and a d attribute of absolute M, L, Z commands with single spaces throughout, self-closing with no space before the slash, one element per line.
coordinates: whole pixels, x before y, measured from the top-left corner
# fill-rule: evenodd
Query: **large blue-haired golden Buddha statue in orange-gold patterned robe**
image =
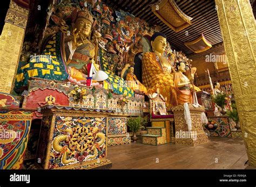
<path fill-rule="evenodd" d="M 143 54 L 142 73 L 143 84 L 149 94 L 159 89 L 166 98 L 166 106 L 171 107 L 173 90 L 173 72 L 171 62 L 163 56 L 166 48 L 166 35 L 154 33 L 151 37 L 152 52 Z"/>

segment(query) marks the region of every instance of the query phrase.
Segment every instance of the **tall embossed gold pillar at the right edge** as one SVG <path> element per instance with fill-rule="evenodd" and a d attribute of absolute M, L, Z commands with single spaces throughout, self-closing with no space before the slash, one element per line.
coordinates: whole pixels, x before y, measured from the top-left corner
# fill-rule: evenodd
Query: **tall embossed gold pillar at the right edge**
<path fill-rule="evenodd" d="M 247 0 L 215 0 L 250 166 L 256 167 L 256 32 Z"/>

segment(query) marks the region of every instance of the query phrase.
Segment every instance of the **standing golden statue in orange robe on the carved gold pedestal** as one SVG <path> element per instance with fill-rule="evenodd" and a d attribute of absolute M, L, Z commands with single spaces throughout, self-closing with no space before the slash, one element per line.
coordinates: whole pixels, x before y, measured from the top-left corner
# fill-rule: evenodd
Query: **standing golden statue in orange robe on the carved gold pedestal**
<path fill-rule="evenodd" d="M 178 71 L 173 75 L 174 92 L 172 98 L 173 106 L 181 105 L 184 103 L 193 102 L 191 94 L 191 80 L 189 80 L 183 73 L 186 71 L 186 65 L 184 62 L 177 64 Z"/>

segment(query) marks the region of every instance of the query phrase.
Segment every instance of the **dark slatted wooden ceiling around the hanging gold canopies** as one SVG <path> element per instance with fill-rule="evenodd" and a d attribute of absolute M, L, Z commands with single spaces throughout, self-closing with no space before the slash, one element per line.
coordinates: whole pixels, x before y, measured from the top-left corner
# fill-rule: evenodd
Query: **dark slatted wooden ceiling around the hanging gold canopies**
<path fill-rule="evenodd" d="M 150 4 L 156 3 L 157 0 L 105 0 L 106 4 L 114 10 L 124 10 L 132 15 L 146 20 L 150 25 L 160 25 L 161 32 L 167 35 L 167 40 L 171 46 L 183 51 L 185 54 L 193 53 L 188 49 L 184 42 L 192 41 L 204 33 L 205 38 L 212 45 L 222 42 L 222 36 L 219 26 L 217 10 L 213 0 L 174 0 L 179 8 L 187 15 L 192 17 L 192 25 L 178 33 L 166 26 L 151 11 Z M 187 34 L 186 34 L 187 33 Z"/>

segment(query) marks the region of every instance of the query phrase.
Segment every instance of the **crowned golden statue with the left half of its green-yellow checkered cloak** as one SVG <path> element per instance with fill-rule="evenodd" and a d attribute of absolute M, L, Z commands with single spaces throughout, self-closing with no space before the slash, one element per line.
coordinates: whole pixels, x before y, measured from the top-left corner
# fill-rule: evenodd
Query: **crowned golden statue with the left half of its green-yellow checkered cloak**
<path fill-rule="evenodd" d="M 95 19 L 87 9 L 75 9 L 71 19 L 72 26 L 68 31 L 53 34 L 46 43 L 42 55 L 31 57 L 29 62 L 19 63 L 15 91 L 22 90 L 30 77 L 70 80 L 83 84 L 87 82 L 88 85 L 88 80 L 92 80 L 92 73 L 104 73 L 98 71 L 96 64 L 93 63 L 96 45 L 91 41 L 91 32 Z M 60 31 L 63 31 L 61 27 Z"/>

